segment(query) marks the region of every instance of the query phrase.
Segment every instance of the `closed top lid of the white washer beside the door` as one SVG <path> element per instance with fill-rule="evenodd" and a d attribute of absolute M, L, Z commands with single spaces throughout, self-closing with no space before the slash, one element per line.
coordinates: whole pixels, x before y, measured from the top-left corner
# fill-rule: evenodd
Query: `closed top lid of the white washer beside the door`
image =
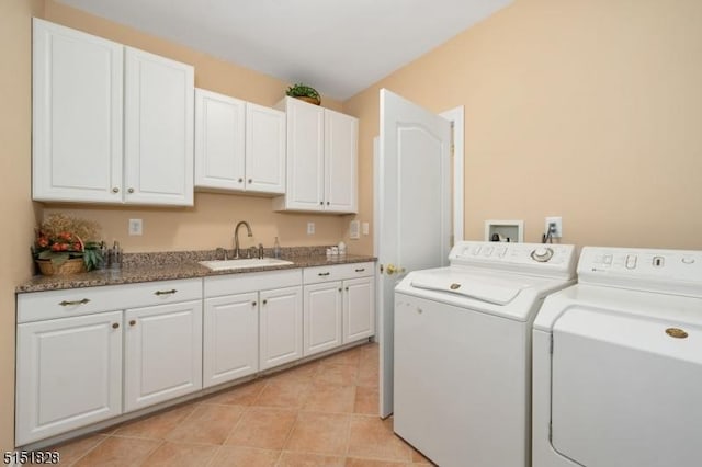
<path fill-rule="evenodd" d="M 526 285 L 516 282 L 499 281 L 496 277 L 467 274 L 415 274 L 410 285 L 433 292 L 461 295 L 467 298 L 495 305 L 507 305 L 512 301 Z"/>

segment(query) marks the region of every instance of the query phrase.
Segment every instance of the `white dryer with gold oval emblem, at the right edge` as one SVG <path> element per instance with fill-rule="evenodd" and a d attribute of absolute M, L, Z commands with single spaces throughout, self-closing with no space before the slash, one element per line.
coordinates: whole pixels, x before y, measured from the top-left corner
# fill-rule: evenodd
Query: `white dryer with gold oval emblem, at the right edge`
<path fill-rule="evenodd" d="M 534 467 L 702 465 L 702 252 L 584 248 L 533 358 Z"/>

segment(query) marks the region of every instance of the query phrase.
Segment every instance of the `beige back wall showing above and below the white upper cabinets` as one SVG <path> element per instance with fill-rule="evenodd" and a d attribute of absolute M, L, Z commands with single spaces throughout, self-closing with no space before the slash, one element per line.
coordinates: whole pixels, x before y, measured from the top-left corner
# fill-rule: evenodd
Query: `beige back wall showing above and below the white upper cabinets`
<path fill-rule="evenodd" d="M 134 29 L 46 0 L 44 18 L 90 34 L 173 58 L 195 67 L 195 86 L 261 105 L 273 105 L 288 83 L 237 65 L 216 59 L 191 48 Z M 326 107 L 341 110 L 341 103 L 322 96 Z M 270 198 L 196 193 L 192 208 L 150 208 L 118 206 L 49 205 L 45 215 L 63 212 L 93 219 L 102 226 L 103 237 L 118 240 L 125 251 L 166 251 L 231 248 L 234 227 L 248 220 L 253 238 L 242 246 L 263 243 L 272 247 L 275 236 L 281 244 L 309 246 L 337 243 L 348 228 L 348 216 L 280 214 L 271 209 Z M 144 220 L 144 235 L 127 235 L 131 218 Z M 307 221 L 315 223 L 315 235 L 307 235 Z"/>

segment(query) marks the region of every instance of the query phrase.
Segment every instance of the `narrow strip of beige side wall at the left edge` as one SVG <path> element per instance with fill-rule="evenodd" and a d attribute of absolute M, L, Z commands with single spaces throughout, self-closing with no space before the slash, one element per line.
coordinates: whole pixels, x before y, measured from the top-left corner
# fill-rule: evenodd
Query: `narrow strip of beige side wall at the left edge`
<path fill-rule="evenodd" d="M 41 207 L 30 198 L 32 15 L 42 2 L 0 2 L 0 452 L 14 447 L 14 287 L 31 274 L 30 244 Z"/>

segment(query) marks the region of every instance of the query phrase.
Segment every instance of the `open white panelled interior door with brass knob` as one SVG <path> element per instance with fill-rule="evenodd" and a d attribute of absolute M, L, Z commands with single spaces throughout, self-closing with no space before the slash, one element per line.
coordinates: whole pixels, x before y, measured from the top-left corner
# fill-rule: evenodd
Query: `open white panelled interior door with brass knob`
<path fill-rule="evenodd" d="M 381 90 L 375 160 L 375 255 L 381 337 L 381 417 L 393 412 L 394 288 L 406 272 L 448 263 L 451 124 Z M 397 272 L 399 271 L 399 272 Z"/>

